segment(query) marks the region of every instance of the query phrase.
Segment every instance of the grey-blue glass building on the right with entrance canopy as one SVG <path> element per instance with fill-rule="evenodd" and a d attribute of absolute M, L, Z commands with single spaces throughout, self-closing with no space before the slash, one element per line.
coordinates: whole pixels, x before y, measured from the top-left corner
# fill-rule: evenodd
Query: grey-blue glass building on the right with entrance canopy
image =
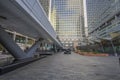
<path fill-rule="evenodd" d="M 119 51 L 120 1 L 86 0 L 86 6 L 89 40 L 101 42 L 105 51 Z"/>

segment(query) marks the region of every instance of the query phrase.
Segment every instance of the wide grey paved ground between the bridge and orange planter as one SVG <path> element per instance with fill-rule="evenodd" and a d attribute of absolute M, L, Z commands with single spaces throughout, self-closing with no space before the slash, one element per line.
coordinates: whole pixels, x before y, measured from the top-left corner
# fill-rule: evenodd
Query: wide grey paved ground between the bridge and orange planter
<path fill-rule="evenodd" d="M 0 80 L 120 80 L 115 57 L 56 54 L 0 76 Z"/>

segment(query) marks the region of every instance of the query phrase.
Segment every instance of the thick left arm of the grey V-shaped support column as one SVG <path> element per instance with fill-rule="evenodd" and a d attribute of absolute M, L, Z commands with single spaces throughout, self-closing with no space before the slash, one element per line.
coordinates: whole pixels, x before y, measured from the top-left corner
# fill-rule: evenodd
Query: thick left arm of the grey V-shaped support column
<path fill-rule="evenodd" d="M 15 41 L 0 26 L 0 43 L 10 52 L 17 60 L 26 58 L 26 53 L 15 43 Z"/>

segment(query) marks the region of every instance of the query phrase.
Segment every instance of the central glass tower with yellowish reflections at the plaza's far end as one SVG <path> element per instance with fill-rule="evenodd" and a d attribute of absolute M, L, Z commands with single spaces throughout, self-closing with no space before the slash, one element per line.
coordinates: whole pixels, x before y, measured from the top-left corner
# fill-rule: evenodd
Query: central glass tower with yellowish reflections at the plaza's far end
<path fill-rule="evenodd" d="M 85 34 L 83 0 L 51 0 L 50 21 L 51 19 L 65 47 L 82 44 Z"/>

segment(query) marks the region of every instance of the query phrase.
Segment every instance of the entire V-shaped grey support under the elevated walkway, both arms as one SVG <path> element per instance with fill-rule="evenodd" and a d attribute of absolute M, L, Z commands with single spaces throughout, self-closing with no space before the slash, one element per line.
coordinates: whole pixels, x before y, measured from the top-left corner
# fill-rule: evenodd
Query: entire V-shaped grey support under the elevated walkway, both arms
<path fill-rule="evenodd" d="M 0 43 L 10 52 L 12 56 L 14 56 L 16 60 L 33 57 L 42 40 L 43 39 L 39 39 L 31 48 L 24 52 L 9 36 L 9 34 L 7 34 L 7 32 L 0 26 Z"/>

